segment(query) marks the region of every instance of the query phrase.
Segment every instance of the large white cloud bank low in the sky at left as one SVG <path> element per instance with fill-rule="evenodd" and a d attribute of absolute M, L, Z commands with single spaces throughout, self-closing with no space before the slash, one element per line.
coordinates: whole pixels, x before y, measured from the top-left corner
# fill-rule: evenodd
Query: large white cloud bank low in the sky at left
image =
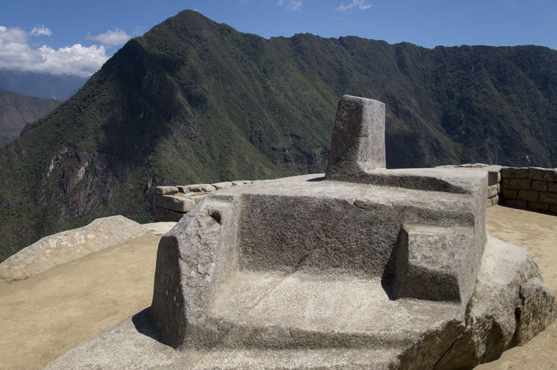
<path fill-rule="evenodd" d="M 29 35 L 22 29 L 0 26 L 0 68 L 88 77 L 108 59 L 102 45 L 76 44 L 58 50 L 42 45 L 33 49 L 28 40 Z"/>

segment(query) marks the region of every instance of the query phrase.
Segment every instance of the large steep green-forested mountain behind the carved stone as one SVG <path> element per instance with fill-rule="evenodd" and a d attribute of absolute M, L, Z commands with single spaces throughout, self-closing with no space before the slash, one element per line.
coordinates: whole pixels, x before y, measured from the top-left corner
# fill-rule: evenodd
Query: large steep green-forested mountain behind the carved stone
<path fill-rule="evenodd" d="M 152 219 L 155 185 L 324 171 L 343 94 L 386 103 L 394 167 L 554 167 L 557 52 L 265 39 L 185 10 L 130 40 L 0 149 L 0 260 L 97 217 Z"/>

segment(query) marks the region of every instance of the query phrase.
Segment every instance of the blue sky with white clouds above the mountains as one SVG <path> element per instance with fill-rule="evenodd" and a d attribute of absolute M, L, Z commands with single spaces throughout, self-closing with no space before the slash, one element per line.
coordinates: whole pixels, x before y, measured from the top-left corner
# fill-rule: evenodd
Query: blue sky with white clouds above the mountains
<path fill-rule="evenodd" d="M 88 76 L 129 38 L 184 9 L 265 38 L 557 49 L 555 0 L 0 0 L 0 68 Z"/>

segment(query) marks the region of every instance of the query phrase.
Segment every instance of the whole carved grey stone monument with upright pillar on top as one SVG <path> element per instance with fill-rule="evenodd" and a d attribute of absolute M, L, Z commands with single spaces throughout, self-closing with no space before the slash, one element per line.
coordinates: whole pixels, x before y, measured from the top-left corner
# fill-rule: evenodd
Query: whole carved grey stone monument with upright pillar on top
<path fill-rule="evenodd" d="M 340 100 L 325 176 L 207 195 L 159 243 L 146 323 L 66 359 L 450 369 L 544 330 L 555 295 L 526 249 L 487 234 L 487 172 L 385 169 L 384 112 L 375 100 Z"/>

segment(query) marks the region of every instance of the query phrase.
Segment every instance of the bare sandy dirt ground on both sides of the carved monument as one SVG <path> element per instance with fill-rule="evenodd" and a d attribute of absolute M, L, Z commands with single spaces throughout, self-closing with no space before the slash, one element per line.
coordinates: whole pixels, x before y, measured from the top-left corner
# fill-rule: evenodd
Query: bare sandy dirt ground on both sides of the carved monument
<path fill-rule="evenodd" d="M 495 206 L 492 236 L 528 248 L 557 291 L 557 216 Z M 141 236 L 19 281 L 0 281 L 0 368 L 40 369 L 148 307 L 160 236 Z M 557 322 L 477 369 L 557 369 Z"/>

